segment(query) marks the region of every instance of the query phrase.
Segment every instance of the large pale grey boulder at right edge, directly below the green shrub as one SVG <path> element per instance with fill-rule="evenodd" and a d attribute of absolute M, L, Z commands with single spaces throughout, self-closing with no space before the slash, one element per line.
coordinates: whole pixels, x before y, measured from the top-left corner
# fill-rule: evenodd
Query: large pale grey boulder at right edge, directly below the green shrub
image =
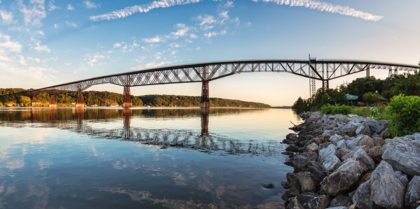
<path fill-rule="evenodd" d="M 395 170 L 420 176 L 420 141 L 393 139 L 387 145 L 382 159 Z"/>

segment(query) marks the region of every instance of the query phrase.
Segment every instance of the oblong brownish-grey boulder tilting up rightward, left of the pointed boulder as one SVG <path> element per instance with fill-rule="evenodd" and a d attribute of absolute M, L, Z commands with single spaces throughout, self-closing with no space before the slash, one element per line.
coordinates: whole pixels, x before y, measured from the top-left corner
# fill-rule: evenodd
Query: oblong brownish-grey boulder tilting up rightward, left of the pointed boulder
<path fill-rule="evenodd" d="M 339 193 L 347 191 L 355 185 L 363 172 L 368 168 L 363 163 L 354 160 L 346 160 L 336 171 L 324 178 L 321 182 L 321 188 L 331 196 L 337 196 Z"/>

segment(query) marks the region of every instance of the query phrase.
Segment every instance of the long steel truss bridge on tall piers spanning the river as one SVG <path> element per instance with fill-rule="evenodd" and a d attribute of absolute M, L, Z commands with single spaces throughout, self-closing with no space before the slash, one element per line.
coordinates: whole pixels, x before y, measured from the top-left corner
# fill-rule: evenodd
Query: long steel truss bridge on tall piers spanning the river
<path fill-rule="evenodd" d="M 124 87 L 124 104 L 131 106 L 130 87 L 202 82 L 201 107 L 209 107 L 209 82 L 240 73 L 277 72 L 291 73 L 309 78 L 310 93 L 315 93 L 315 81 L 322 81 L 322 87 L 328 88 L 329 81 L 359 72 L 370 76 L 371 69 L 388 70 L 389 75 L 402 72 L 416 72 L 417 65 L 357 60 L 246 60 L 208 62 L 139 70 L 120 74 L 100 76 L 60 85 L 45 87 L 27 92 L 36 102 L 36 95 L 47 92 L 51 95 L 50 104 L 55 103 L 55 94 L 78 92 L 76 106 L 83 106 L 82 91 L 100 84 L 115 84 Z"/>

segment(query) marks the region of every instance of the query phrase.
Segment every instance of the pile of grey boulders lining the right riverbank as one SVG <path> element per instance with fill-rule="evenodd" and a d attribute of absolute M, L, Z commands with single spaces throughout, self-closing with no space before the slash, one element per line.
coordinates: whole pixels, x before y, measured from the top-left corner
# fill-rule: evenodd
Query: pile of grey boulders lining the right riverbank
<path fill-rule="evenodd" d="M 293 209 L 420 209 L 420 133 L 388 138 L 387 121 L 303 114 L 288 134 L 281 182 Z"/>

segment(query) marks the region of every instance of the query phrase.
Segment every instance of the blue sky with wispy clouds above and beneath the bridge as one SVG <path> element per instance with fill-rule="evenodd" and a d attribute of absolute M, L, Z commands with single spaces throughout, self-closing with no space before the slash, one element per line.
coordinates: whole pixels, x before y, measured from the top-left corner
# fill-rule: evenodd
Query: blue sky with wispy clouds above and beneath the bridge
<path fill-rule="evenodd" d="M 417 65 L 418 0 L 0 0 L 0 88 L 42 88 L 190 63 L 348 59 Z M 371 75 L 386 78 L 387 70 Z M 330 81 L 335 88 L 365 76 Z M 321 86 L 317 82 L 317 87 Z M 88 90 L 122 93 L 111 84 Z M 131 88 L 200 96 L 201 84 Z M 210 82 L 210 97 L 292 105 L 309 80 L 242 73 Z"/>

